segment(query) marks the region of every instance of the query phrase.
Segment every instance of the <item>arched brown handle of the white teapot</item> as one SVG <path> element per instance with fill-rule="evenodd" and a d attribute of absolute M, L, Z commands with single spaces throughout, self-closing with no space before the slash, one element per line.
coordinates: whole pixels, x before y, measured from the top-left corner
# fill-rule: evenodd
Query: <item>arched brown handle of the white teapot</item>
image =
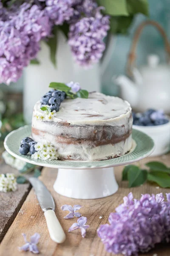
<path fill-rule="evenodd" d="M 132 41 L 130 53 L 127 58 L 127 74 L 129 76 L 133 76 L 132 70 L 133 70 L 133 67 L 135 66 L 137 43 L 139 41 L 141 32 L 146 25 L 153 25 L 159 30 L 160 34 L 164 38 L 165 50 L 167 52 L 167 63 L 169 63 L 169 61 L 170 61 L 170 44 L 169 44 L 169 41 L 168 41 L 168 38 L 167 38 L 167 35 L 166 35 L 164 29 L 156 21 L 146 20 L 146 21 L 142 22 L 140 24 L 140 26 L 136 29 L 136 32 L 135 32 L 135 35 L 134 35 L 134 38 Z"/>

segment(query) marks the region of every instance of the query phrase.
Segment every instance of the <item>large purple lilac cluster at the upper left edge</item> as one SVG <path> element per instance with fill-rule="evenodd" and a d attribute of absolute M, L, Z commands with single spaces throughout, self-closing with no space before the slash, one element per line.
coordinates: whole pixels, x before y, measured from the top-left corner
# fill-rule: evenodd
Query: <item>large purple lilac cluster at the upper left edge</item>
<path fill-rule="evenodd" d="M 0 83 L 16 82 L 40 50 L 40 40 L 51 33 L 51 23 L 37 5 L 23 3 L 0 21 Z"/>

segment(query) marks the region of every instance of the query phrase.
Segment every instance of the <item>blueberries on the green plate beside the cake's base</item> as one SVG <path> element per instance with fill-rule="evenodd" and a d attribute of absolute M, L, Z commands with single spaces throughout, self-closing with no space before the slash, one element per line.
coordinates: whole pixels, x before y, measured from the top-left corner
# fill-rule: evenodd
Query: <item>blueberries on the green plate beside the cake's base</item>
<path fill-rule="evenodd" d="M 26 137 L 23 140 L 21 140 L 21 145 L 19 148 L 20 154 L 34 154 L 36 152 L 34 145 L 37 144 L 33 139 Z"/>

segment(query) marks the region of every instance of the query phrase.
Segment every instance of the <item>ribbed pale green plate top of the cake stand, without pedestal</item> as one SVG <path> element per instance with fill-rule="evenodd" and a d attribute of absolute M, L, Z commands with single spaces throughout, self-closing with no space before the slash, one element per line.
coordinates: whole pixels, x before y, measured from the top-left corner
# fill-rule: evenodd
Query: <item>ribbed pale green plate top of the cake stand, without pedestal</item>
<path fill-rule="evenodd" d="M 95 162 L 78 162 L 78 161 L 61 161 L 61 160 L 32 160 L 30 155 L 22 155 L 19 153 L 20 141 L 24 137 L 30 137 L 31 125 L 26 125 L 15 131 L 11 131 L 4 141 L 6 151 L 14 157 L 17 157 L 28 163 L 33 163 L 39 166 L 47 166 L 51 168 L 62 168 L 62 169 L 98 169 L 108 168 L 114 166 L 120 166 L 130 164 L 149 156 L 154 149 L 153 140 L 142 133 L 133 129 L 132 137 L 136 143 L 134 149 L 128 154 L 109 160 L 95 161 Z M 134 144 L 135 144 L 134 143 Z"/>

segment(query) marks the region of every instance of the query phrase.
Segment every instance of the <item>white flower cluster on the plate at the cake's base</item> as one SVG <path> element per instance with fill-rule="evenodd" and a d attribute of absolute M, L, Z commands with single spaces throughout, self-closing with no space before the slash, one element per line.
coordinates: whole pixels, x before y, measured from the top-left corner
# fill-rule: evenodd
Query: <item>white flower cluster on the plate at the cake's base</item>
<path fill-rule="evenodd" d="M 51 143 L 38 142 L 34 145 L 37 152 L 31 155 L 31 158 L 41 160 L 54 160 L 58 158 L 57 148 Z"/>

